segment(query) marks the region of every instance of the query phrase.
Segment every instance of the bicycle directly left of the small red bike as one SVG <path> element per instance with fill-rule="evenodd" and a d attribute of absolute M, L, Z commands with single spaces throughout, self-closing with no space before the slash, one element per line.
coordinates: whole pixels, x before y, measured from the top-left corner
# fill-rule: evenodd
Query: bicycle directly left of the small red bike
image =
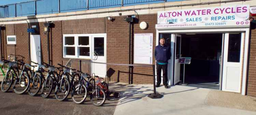
<path fill-rule="evenodd" d="M 71 97 L 74 103 L 80 104 L 84 102 L 87 97 L 87 94 L 90 94 L 95 89 L 95 80 L 91 78 L 87 73 L 76 70 L 76 72 L 81 76 L 79 84 L 75 86 L 72 91 Z M 85 79 L 87 77 L 88 81 Z M 84 83 L 86 82 L 86 84 Z"/>

